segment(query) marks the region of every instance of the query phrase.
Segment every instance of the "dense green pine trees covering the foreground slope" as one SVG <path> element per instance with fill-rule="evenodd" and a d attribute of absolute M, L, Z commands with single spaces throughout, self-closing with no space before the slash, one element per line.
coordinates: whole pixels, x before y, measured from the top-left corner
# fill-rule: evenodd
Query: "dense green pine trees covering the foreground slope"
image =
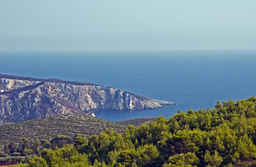
<path fill-rule="evenodd" d="M 255 166 L 255 106 L 254 97 L 218 101 L 214 109 L 129 125 L 123 134 L 106 129 L 90 137 L 23 138 L 0 156 L 22 157 L 16 166 Z"/>

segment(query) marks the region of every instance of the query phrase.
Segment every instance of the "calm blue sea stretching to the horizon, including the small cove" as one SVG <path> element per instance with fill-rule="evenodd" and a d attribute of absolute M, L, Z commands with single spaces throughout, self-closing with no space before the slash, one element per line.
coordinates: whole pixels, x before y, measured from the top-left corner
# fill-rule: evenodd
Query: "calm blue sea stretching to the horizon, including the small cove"
<path fill-rule="evenodd" d="M 217 101 L 256 97 L 256 50 L 0 52 L 0 73 L 90 82 L 177 104 L 93 111 L 113 122 L 168 119 L 178 110 L 213 109 Z"/>

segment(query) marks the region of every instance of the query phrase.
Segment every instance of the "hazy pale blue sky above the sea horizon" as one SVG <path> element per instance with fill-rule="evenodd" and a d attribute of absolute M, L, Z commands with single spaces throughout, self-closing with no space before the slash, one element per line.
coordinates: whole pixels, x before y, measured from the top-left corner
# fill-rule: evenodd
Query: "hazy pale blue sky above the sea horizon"
<path fill-rule="evenodd" d="M 0 51 L 256 49 L 256 1 L 0 0 Z"/>

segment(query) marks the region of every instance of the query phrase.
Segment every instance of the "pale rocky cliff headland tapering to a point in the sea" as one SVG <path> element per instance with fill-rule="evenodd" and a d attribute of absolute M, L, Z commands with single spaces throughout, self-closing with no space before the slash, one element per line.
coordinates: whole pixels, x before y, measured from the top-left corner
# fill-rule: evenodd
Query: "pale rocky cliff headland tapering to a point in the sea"
<path fill-rule="evenodd" d="M 86 114 L 97 109 L 142 110 L 176 105 L 86 82 L 26 79 L 0 78 L 0 124 L 70 112 Z"/>

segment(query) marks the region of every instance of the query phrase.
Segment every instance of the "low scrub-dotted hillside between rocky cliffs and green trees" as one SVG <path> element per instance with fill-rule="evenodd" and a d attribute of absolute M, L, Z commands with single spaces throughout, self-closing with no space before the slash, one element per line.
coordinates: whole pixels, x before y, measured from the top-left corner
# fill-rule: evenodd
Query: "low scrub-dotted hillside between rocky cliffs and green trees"
<path fill-rule="evenodd" d="M 84 134 L 89 137 L 98 135 L 106 128 L 123 133 L 125 125 L 120 125 L 94 116 L 84 114 L 60 114 L 38 119 L 0 125 L 0 145 L 10 141 L 20 142 L 23 137 L 28 139 L 51 140 L 57 135 L 74 136 Z"/>

